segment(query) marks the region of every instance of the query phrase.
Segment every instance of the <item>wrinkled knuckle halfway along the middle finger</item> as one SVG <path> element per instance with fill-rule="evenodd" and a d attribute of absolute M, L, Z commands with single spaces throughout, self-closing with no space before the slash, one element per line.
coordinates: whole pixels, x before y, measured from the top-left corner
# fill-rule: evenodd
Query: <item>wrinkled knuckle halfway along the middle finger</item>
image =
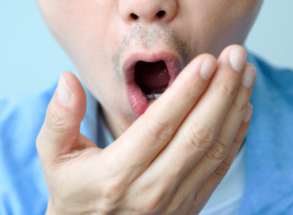
<path fill-rule="evenodd" d="M 191 123 L 183 131 L 183 139 L 193 150 L 206 150 L 214 138 L 214 131 L 203 124 Z"/>

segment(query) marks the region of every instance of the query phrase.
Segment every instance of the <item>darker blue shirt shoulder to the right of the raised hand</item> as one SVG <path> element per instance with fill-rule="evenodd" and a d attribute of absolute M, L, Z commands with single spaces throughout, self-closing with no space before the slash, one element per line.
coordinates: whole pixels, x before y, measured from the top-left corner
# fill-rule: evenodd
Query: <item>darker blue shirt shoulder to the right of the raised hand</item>
<path fill-rule="evenodd" d="M 281 214 L 290 208 L 288 198 L 293 198 L 293 72 L 252 54 L 248 61 L 256 67 L 257 78 L 245 142 L 245 190 L 239 211 Z"/>

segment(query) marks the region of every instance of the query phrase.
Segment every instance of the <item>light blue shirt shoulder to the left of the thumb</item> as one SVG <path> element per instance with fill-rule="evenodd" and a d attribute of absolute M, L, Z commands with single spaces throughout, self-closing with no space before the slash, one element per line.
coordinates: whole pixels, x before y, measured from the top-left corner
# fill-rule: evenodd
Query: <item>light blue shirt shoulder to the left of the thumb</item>
<path fill-rule="evenodd" d="M 5 184 L 0 196 L 10 199 L 0 198 L 4 213 L 45 213 L 48 190 L 35 143 L 56 85 L 34 94 L 0 97 L 0 185 Z"/>

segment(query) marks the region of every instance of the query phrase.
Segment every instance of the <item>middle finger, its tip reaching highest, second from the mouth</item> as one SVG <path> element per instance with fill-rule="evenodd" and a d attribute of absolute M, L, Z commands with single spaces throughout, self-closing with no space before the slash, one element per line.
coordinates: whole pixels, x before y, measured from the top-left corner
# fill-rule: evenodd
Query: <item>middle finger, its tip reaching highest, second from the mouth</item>
<path fill-rule="evenodd" d="M 233 68 L 230 60 L 235 54 L 238 55 L 237 64 L 241 65 L 238 66 L 240 72 Z M 219 62 L 211 86 L 166 149 L 148 168 L 149 175 L 157 180 L 149 183 L 175 188 L 214 142 L 240 86 L 246 51 L 240 46 L 231 46 L 221 56 L 224 56 L 223 61 Z"/>

